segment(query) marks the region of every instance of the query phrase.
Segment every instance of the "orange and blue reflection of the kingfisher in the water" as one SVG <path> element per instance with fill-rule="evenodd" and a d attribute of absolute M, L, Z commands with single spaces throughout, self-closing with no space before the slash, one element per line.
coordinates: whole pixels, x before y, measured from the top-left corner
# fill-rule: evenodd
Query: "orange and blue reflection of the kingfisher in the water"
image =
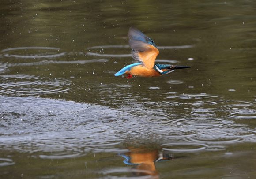
<path fill-rule="evenodd" d="M 154 176 L 154 179 L 159 178 L 155 163 L 173 159 L 173 154 L 159 149 L 132 148 L 130 152 L 120 154 L 120 156 L 124 157 L 124 164 L 133 165 L 132 169 L 138 170 L 138 172 L 133 172 L 132 175 L 142 176 L 145 173 L 139 171 L 147 171 L 148 174 Z"/>

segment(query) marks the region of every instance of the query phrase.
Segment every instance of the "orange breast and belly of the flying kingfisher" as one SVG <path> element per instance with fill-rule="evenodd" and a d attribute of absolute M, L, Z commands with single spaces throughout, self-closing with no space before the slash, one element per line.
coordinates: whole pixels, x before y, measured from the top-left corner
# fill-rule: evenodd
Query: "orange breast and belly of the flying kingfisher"
<path fill-rule="evenodd" d="M 155 77 L 155 76 L 161 75 L 158 71 L 155 71 L 153 68 L 149 69 L 143 65 L 132 67 L 131 70 L 127 71 L 126 73 L 134 76 L 141 76 L 141 77 Z"/>

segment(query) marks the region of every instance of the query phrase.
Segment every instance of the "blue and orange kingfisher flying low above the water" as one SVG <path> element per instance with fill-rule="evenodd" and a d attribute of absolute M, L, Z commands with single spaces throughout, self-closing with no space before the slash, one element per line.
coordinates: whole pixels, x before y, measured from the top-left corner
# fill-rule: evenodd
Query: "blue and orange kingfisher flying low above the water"
<path fill-rule="evenodd" d="M 157 46 L 151 38 L 135 27 L 130 27 L 128 37 L 130 47 L 132 48 L 132 58 L 139 63 L 133 63 L 122 68 L 115 76 L 125 74 L 127 79 L 133 76 L 157 77 L 168 74 L 176 69 L 190 68 L 188 66 L 155 63 L 155 59 L 159 54 Z"/>

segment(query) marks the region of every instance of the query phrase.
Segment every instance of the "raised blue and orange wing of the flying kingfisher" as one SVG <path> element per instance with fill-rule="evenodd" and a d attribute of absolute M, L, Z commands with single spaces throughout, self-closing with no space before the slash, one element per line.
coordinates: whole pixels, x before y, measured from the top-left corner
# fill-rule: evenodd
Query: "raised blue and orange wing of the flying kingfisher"
<path fill-rule="evenodd" d="M 153 68 L 159 53 L 154 41 L 134 27 L 129 29 L 128 37 L 132 48 L 132 58 L 143 63 L 147 68 Z"/>

